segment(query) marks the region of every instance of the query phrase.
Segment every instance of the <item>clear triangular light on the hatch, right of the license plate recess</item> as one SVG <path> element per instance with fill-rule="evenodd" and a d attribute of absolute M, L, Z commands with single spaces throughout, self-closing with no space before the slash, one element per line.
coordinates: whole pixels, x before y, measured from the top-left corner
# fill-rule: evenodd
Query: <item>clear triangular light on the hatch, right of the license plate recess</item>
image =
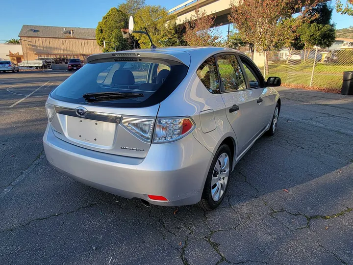
<path fill-rule="evenodd" d="M 153 118 L 124 116 L 121 123 L 143 141 L 151 142 L 153 122 Z"/>

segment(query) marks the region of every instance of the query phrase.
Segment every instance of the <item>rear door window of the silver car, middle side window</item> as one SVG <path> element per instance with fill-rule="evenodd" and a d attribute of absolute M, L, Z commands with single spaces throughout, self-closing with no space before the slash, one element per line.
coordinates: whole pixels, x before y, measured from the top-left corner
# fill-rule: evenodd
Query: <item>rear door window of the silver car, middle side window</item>
<path fill-rule="evenodd" d="M 246 89 L 245 78 L 235 55 L 220 55 L 217 64 L 225 92 Z"/>

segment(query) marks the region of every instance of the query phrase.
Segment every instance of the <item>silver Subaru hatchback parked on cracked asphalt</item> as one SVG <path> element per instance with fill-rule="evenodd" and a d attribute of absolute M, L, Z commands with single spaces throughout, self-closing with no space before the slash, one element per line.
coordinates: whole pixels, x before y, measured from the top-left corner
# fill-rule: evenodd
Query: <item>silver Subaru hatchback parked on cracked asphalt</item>
<path fill-rule="evenodd" d="M 63 174 L 145 205 L 211 210 L 280 98 L 245 54 L 172 47 L 91 55 L 50 93 L 46 157 Z"/>

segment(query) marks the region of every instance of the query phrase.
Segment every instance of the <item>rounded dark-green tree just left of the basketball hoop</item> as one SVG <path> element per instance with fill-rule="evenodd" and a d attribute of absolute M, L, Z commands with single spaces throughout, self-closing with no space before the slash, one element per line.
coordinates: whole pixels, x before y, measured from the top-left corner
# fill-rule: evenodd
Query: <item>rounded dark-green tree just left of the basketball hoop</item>
<path fill-rule="evenodd" d="M 132 44 L 128 39 L 124 39 L 121 33 L 122 28 L 128 27 L 128 17 L 122 10 L 112 7 L 98 23 L 96 29 L 96 39 L 103 52 L 125 51 L 132 49 Z M 104 49 L 103 41 L 106 48 Z"/>

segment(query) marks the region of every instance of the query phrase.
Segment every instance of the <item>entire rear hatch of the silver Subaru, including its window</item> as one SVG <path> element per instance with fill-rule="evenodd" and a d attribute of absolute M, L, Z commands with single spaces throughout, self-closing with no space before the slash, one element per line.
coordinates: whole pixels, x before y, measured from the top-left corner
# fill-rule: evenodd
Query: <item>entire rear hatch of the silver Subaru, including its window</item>
<path fill-rule="evenodd" d="M 146 157 L 159 103 L 188 70 L 174 56 L 148 55 L 88 60 L 50 94 L 46 109 L 54 135 L 86 149 Z"/>

